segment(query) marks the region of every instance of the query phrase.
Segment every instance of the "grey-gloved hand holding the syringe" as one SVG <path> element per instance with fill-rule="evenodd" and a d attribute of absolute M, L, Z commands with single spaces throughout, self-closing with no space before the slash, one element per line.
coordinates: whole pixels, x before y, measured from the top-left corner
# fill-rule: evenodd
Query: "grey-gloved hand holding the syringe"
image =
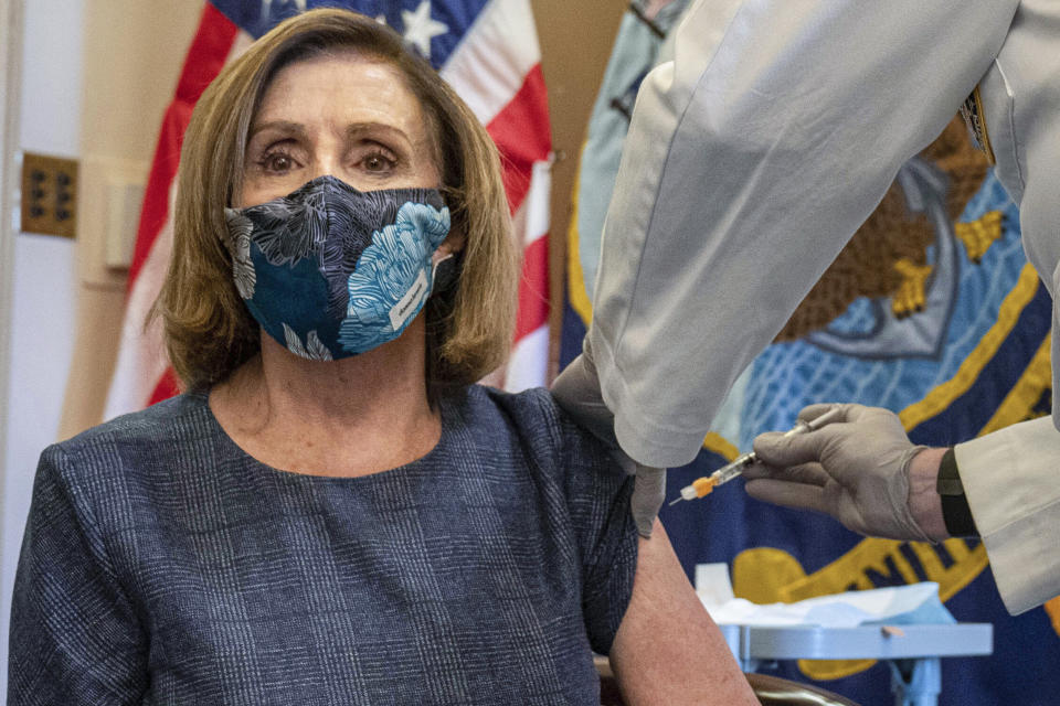
<path fill-rule="evenodd" d="M 862 405 L 810 405 L 810 420 L 839 407 L 816 431 L 754 440 L 759 463 L 745 469 L 752 498 L 831 515 L 848 530 L 892 539 L 931 538 L 909 510 L 909 467 L 926 447 L 913 446 L 898 415 Z"/>

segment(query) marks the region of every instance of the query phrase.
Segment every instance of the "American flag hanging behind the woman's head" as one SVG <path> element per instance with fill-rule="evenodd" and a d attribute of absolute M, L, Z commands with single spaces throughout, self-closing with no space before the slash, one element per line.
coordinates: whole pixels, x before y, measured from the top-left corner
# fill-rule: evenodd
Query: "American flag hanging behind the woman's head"
<path fill-rule="evenodd" d="M 551 135 L 530 0 L 210 0 L 162 119 L 148 176 L 106 418 L 178 392 L 160 327 L 145 330 L 144 320 L 161 288 L 172 249 L 174 178 L 195 101 L 221 68 L 256 38 L 318 4 L 362 12 L 401 33 L 471 107 L 500 148 L 508 203 L 522 248 L 522 274 L 512 353 L 506 368 L 490 382 L 509 391 L 544 384 Z"/>

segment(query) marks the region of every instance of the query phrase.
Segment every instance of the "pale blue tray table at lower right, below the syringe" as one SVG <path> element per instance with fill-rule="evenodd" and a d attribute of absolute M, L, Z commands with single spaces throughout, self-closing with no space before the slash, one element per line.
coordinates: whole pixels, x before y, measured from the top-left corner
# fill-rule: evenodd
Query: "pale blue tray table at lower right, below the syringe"
<path fill-rule="evenodd" d="M 884 660 L 897 706 L 935 706 L 942 692 L 941 657 L 994 652 L 994 625 L 719 625 L 744 672 L 780 660 Z"/>

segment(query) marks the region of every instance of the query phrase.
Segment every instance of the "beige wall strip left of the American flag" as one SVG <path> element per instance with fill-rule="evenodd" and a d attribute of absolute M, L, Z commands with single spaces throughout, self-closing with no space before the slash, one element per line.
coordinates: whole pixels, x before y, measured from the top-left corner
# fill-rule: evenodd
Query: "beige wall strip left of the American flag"
<path fill-rule="evenodd" d="M 202 0 L 85 0 L 77 338 L 61 438 L 100 420 L 121 331 L 126 270 L 104 259 L 108 186 L 146 183 L 201 11 Z"/>

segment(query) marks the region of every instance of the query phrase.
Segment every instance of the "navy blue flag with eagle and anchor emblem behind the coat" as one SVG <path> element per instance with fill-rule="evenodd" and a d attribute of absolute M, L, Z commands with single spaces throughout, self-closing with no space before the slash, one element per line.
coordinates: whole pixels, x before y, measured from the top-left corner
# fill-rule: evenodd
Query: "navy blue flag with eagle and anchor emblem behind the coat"
<path fill-rule="evenodd" d="M 653 9 L 660 3 L 651 4 Z M 687 3 L 647 17 L 634 2 L 619 29 L 579 164 L 568 234 L 561 364 L 581 352 L 592 315 L 600 233 L 629 113 Z M 773 345 L 740 377 L 699 458 L 669 472 L 667 494 L 786 429 L 806 404 L 857 402 L 900 414 L 915 442 L 944 446 L 1048 414 L 1051 302 L 1027 264 L 1018 213 L 956 120 L 901 170 L 876 213 Z M 709 325 L 709 322 L 703 322 Z M 1060 605 L 1017 618 L 1004 609 L 984 547 L 869 539 L 837 522 L 759 503 L 730 483 L 664 506 L 681 563 L 727 563 L 736 596 L 755 602 L 932 580 L 954 617 L 994 624 L 994 655 L 943 660 L 943 705 L 1054 703 Z M 777 671 L 817 680 L 866 706 L 894 703 L 873 661 L 801 661 Z"/>

